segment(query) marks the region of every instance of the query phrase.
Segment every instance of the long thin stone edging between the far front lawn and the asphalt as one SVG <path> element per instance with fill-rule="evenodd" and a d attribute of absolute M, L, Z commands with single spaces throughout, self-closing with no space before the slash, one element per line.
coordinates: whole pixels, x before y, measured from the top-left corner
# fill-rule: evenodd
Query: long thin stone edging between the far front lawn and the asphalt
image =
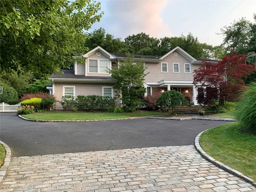
<path fill-rule="evenodd" d="M 211 120 L 211 121 L 237 121 L 233 119 L 215 119 L 215 118 L 168 118 L 168 117 L 131 117 L 131 118 L 115 118 L 115 119 L 101 119 L 101 120 L 34 120 L 34 119 L 28 119 L 25 117 L 22 117 L 21 115 L 18 115 L 20 118 L 26 121 L 33 121 L 33 122 L 88 122 L 88 121 L 115 121 L 115 120 L 127 120 L 127 119 L 140 119 L 140 118 L 154 118 L 154 119 L 165 119 L 165 120 L 177 120 L 177 121 L 183 121 L 183 120 Z"/>

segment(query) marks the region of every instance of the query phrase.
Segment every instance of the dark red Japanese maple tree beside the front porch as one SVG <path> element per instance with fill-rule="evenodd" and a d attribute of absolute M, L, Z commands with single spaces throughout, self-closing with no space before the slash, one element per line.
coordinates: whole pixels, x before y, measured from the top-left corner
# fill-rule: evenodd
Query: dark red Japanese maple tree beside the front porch
<path fill-rule="evenodd" d="M 203 61 L 203 65 L 194 70 L 193 84 L 204 87 L 203 95 L 197 95 L 200 104 L 224 105 L 226 101 L 234 101 L 238 92 L 245 87 L 242 78 L 250 75 L 255 70 L 253 64 L 245 64 L 246 55 L 237 55 L 233 52 L 231 56 L 223 57 L 218 64 Z"/>

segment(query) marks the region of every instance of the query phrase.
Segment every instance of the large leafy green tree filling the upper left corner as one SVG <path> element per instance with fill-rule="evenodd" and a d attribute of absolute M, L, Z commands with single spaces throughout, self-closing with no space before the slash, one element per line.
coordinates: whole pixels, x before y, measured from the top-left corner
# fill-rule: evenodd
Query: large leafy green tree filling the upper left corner
<path fill-rule="evenodd" d="M 93 0 L 0 1 L 1 69 L 50 74 L 69 66 L 88 50 L 84 31 L 100 8 Z"/>

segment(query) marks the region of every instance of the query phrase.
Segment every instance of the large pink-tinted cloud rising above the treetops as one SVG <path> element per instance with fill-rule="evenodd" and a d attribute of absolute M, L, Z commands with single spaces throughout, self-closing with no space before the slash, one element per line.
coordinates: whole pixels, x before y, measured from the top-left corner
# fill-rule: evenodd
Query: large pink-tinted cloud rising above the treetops
<path fill-rule="evenodd" d="M 100 22 L 108 33 L 115 37 L 144 32 L 151 37 L 173 36 L 171 29 L 163 22 L 161 11 L 167 5 L 162 1 L 105 1 L 106 17 Z"/>

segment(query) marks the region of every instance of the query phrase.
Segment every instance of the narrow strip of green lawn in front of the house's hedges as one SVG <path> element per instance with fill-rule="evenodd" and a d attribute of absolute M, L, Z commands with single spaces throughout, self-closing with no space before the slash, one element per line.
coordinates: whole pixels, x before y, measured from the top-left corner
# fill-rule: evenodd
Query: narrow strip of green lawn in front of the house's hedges
<path fill-rule="evenodd" d="M 142 113 L 32 113 L 23 115 L 25 118 L 35 120 L 102 120 L 114 118 L 129 118 L 136 116 L 165 115 L 160 112 L 142 112 Z"/>

